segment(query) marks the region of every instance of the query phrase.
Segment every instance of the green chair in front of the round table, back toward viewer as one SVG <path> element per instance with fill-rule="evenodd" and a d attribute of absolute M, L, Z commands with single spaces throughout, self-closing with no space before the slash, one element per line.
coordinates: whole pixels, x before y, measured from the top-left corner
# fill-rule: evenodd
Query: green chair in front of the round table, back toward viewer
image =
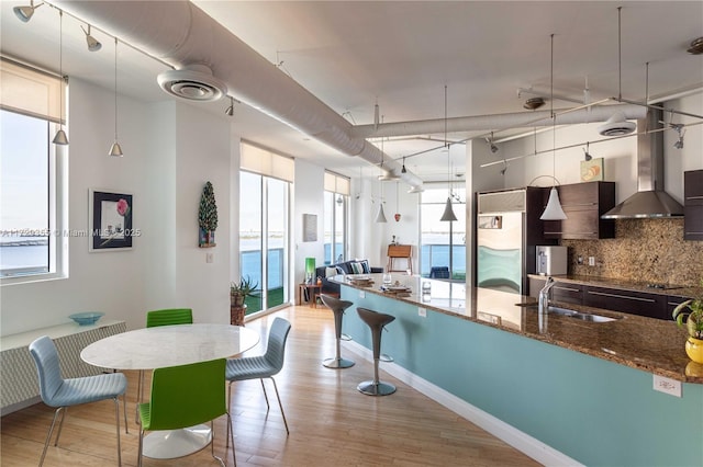
<path fill-rule="evenodd" d="M 145 431 L 179 430 L 208 421 L 213 434 L 213 441 L 210 442 L 212 457 L 224 467 L 224 460 L 215 456 L 213 423 L 224 414 L 227 415 L 227 440 L 232 441 L 232 459 L 234 465 L 237 465 L 231 430 L 232 419 L 225 400 L 224 369 L 225 358 L 219 358 L 154 371 L 150 401 L 138 405 L 142 424 L 137 458 L 140 467 Z"/>

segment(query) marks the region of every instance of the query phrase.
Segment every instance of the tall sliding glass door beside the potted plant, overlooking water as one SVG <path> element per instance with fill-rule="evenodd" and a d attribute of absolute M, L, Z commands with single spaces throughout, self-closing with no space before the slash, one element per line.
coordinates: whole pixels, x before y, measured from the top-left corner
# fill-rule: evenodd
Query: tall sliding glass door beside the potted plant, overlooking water
<path fill-rule="evenodd" d="M 288 182 L 242 171 L 239 175 L 239 275 L 258 283 L 246 314 L 289 301 Z"/>

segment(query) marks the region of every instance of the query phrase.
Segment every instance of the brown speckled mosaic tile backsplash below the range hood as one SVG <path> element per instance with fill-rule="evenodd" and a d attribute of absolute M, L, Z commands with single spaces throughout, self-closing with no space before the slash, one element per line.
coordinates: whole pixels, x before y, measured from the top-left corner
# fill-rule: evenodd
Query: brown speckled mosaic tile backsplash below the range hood
<path fill-rule="evenodd" d="M 683 240 L 683 219 L 617 219 L 613 239 L 561 244 L 569 247 L 569 274 L 685 286 L 703 277 L 703 241 Z"/>

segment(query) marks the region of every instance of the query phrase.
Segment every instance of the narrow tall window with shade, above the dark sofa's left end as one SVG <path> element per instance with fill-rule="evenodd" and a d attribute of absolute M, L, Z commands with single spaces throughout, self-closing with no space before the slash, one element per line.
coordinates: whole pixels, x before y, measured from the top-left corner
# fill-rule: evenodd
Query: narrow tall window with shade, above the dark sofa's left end
<path fill-rule="evenodd" d="M 349 179 L 325 172 L 324 236 L 325 264 L 342 262 L 347 255 Z"/>

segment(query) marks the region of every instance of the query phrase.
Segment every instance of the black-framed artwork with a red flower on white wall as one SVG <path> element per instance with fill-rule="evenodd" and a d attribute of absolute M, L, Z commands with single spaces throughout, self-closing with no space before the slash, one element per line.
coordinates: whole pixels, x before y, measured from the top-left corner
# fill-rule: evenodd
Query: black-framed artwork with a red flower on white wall
<path fill-rule="evenodd" d="M 131 194 L 90 190 L 90 251 L 115 251 L 132 248 L 133 200 Z"/>

